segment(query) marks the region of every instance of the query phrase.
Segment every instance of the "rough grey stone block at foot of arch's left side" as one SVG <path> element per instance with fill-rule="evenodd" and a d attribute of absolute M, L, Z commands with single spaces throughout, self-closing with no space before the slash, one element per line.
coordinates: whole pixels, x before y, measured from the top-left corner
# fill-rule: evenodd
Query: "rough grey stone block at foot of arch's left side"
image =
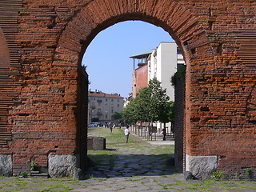
<path fill-rule="evenodd" d="M 76 155 L 49 154 L 48 156 L 48 173 L 52 178 L 73 178 L 77 165 Z"/>

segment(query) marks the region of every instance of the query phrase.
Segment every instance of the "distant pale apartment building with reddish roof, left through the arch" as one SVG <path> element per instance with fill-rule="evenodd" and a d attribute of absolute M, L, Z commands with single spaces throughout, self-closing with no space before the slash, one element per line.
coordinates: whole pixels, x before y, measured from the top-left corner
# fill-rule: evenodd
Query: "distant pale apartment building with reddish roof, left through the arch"
<path fill-rule="evenodd" d="M 99 122 L 110 122 L 114 112 L 122 112 L 123 98 L 119 94 L 105 94 L 101 91 L 88 92 L 88 123 L 92 118 Z"/>

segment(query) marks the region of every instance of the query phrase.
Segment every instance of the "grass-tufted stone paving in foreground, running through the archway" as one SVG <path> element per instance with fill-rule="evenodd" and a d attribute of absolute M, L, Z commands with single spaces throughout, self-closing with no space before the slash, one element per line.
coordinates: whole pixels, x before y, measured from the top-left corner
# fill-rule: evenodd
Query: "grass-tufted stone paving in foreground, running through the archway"
<path fill-rule="evenodd" d="M 118 149 L 122 154 L 95 154 L 97 166 L 86 173 L 86 180 L 0 178 L 0 191 L 256 191 L 256 182 L 186 181 L 174 167 L 166 166 L 169 155 L 150 153 L 154 146 L 166 144 L 170 142 L 148 142 L 144 150 L 128 144 Z"/>

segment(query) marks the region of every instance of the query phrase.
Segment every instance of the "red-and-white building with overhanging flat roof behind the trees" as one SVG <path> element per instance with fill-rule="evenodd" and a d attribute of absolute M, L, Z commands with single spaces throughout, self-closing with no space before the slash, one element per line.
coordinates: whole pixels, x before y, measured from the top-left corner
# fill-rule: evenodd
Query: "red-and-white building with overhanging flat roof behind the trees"
<path fill-rule="evenodd" d="M 142 54 L 134 55 L 134 68 L 136 62 L 137 69 L 133 72 L 133 98 L 142 87 L 148 86 L 150 79 L 157 78 L 161 82 L 170 101 L 174 101 L 174 87 L 171 86 L 170 78 L 177 71 L 179 65 L 185 65 L 181 50 L 175 42 L 161 42 L 159 46 Z M 162 123 L 156 123 L 158 130 L 162 130 Z M 167 131 L 170 132 L 170 123 L 166 124 Z"/>

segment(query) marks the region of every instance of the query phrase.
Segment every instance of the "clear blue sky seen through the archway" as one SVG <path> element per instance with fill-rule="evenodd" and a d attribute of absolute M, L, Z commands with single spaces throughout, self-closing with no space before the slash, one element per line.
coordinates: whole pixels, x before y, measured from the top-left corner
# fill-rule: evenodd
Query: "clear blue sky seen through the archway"
<path fill-rule="evenodd" d="M 82 65 L 87 66 L 90 90 L 132 92 L 133 59 L 130 56 L 155 49 L 160 42 L 174 42 L 162 28 L 146 22 L 119 22 L 102 30 L 90 43 Z"/>

